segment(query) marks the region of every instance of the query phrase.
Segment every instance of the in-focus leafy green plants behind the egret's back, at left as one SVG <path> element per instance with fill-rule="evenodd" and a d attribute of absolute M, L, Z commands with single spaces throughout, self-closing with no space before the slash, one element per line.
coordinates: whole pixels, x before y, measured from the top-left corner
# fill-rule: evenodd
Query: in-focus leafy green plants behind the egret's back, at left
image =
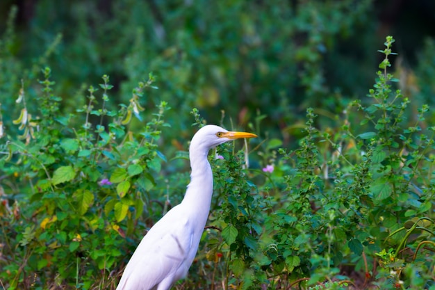
<path fill-rule="evenodd" d="M 110 111 L 106 102 L 113 86 L 104 75 L 99 108 L 97 89 L 90 86 L 88 104 L 61 116 L 51 70 L 42 72 L 38 111 L 29 113 L 23 86 L 17 99 L 22 113 L 14 123 L 24 134 L 16 140 L 7 137 L 8 156 L 1 159 L 3 172 L 15 176 L 3 189 L 5 205 L 13 204 L 15 214 L 1 216 L 8 263 L 0 277 L 9 289 L 35 283 L 89 289 L 101 277 L 99 271 L 109 277 L 122 257 L 124 237 L 140 226 L 154 172 L 165 161 L 156 141 L 167 126 L 163 116 L 168 106 L 159 104 L 154 118 L 133 133 L 127 126 L 132 114 L 140 118 L 144 109 L 139 100 L 153 76 L 133 89 L 128 106 Z M 84 121 L 79 128 L 72 126 L 77 118 Z M 98 283 L 107 287 L 113 282 L 112 277 Z"/>

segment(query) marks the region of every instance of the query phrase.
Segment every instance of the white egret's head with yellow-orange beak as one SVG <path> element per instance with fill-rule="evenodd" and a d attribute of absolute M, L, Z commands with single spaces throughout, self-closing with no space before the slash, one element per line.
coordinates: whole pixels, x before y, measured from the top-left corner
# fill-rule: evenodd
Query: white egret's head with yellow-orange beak
<path fill-rule="evenodd" d="M 240 139 L 255 138 L 256 135 L 247 132 L 228 131 L 216 125 L 206 125 L 199 129 L 193 136 L 190 143 L 190 150 L 199 150 L 200 148 L 208 151 L 222 143 Z"/>

